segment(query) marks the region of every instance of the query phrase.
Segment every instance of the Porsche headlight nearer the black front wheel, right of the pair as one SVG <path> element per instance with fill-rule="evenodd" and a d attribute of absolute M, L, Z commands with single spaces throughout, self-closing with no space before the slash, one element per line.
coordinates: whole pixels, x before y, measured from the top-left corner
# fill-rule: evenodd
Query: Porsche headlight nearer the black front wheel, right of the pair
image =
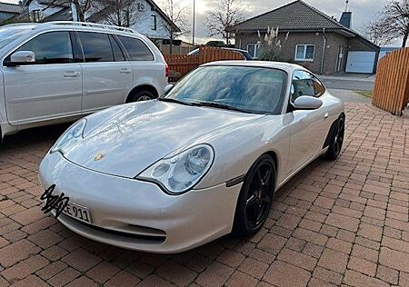
<path fill-rule="evenodd" d="M 202 179 L 213 160 L 213 148 L 207 144 L 199 144 L 183 153 L 160 160 L 136 178 L 158 183 L 171 194 L 185 193 Z"/>

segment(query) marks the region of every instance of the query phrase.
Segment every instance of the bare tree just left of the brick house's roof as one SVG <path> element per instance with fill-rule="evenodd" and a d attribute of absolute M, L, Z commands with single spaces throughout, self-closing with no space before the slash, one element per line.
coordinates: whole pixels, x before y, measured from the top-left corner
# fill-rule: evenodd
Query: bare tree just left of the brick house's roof
<path fill-rule="evenodd" d="M 229 27 L 244 21 L 245 5 L 241 0 L 220 0 L 219 5 L 210 11 L 205 25 L 209 29 L 208 35 L 221 35 L 227 45 L 234 35 L 227 31 Z"/>

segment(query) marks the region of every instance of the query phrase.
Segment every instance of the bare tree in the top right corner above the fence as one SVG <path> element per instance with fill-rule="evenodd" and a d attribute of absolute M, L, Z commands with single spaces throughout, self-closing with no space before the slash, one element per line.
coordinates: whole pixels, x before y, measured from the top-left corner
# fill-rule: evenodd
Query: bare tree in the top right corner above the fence
<path fill-rule="evenodd" d="M 409 0 L 389 0 L 384 10 L 369 25 L 368 37 L 379 38 L 381 44 L 403 38 L 402 47 L 409 37 Z"/>

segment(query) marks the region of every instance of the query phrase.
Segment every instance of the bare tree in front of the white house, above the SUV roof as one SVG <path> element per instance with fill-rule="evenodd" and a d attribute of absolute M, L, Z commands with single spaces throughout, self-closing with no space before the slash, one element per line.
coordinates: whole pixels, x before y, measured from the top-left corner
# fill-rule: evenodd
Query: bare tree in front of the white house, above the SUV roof
<path fill-rule="evenodd" d="M 109 25 L 129 27 L 142 17 L 133 0 L 95 0 L 93 10 L 97 12 L 92 15 L 92 21 L 104 21 Z"/>

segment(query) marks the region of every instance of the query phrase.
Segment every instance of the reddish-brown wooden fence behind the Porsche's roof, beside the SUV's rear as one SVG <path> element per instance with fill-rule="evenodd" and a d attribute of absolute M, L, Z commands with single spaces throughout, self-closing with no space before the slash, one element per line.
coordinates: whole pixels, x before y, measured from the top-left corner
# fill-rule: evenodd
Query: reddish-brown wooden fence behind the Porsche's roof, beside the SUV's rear
<path fill-rule="evenodd" d="M 169 82 L 177 81 L 200 64 L 222 60 L 243 60 L 242 54 L 215 47 L 201 46 L 199 54 L 165 54 L 169 64 Z"/>

